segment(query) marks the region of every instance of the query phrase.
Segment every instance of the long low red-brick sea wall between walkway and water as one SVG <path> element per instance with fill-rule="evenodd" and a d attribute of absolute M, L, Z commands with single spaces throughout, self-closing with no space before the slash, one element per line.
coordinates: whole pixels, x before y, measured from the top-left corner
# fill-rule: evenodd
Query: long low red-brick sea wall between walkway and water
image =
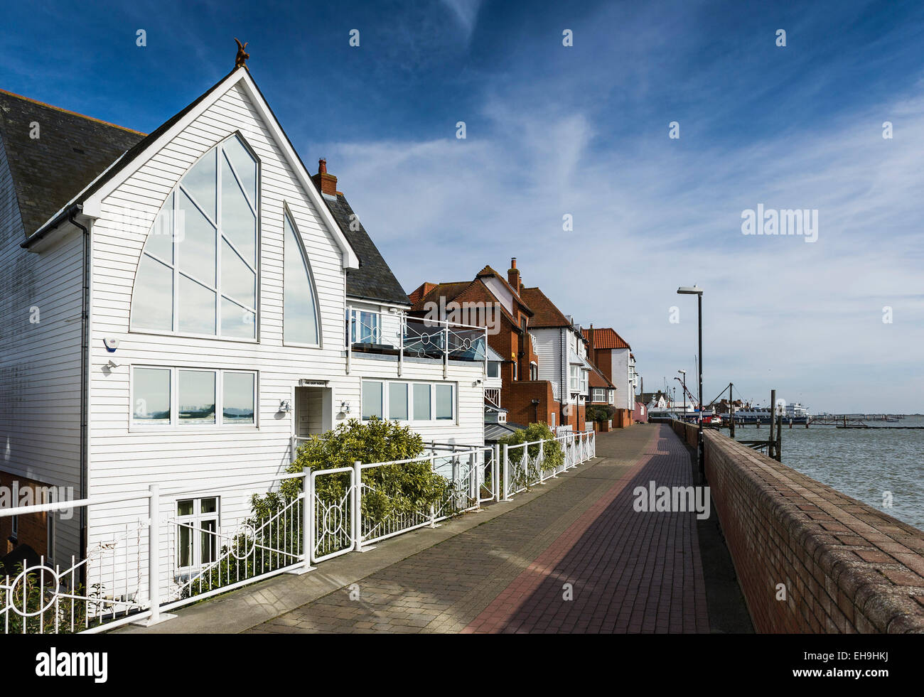
<path fill-rule="evenodd" d="M 673 427 L 695 446 L 696 427 Z M 703 438 L 757 631 L 924 632 L 924 532 L 715 430 Z"/>

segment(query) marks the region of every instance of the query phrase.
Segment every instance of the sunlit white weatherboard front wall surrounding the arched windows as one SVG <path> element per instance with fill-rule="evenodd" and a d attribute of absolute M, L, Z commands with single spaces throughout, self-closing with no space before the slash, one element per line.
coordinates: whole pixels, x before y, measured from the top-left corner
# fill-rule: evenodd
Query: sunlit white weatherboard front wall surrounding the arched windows
<path fill-rule="evenodd" d="M 164 199 L 203 153 L 239 131 L 261 161 L 259 342 L 192 338 L 129 330 L 132 289 L 140 253 Z M 322 346 L 283 342 L 283 209 L 308 252 L 318 294 Z M 270 486 L 269 477 L 290 462 L 289 439 L 299 379 L 326 380 L 332 391 L 334 426 L 342 423 L 340 404 L 359 416 L 363 377 L 397 379 L 396 359 L 377 360 L 354 353 L 346 375 L 346 275 L 341 249 L 322 216 L 283 157 L 270 130 L 244 90 L 231 88 L 197 116 L 163 150 L 103 199 L 102 217 L 93 225 L 91 335 L 91 496 L 142 493 L 159 484 L 163 516 L 175 512 L 177 489 L 221 496 L 222 528 L 249 513 L 249 493 Z M 110 354 L 103 338 L 119 345 Z M 108 371 L 110 360 L 118 365 Z M 201 367 L 258 373 L 256 427 L 133 427 L 130 423 L 129 367 Z M 457 384 L 456 423 L 421 427 L 425 439 L 483 442 L 483 363 L 452 362 L 447 381 Z M 401 379 L 443 380 L 442 363 L 405 362 Z M 279 412 L 290 401 L 290 413 Z M 461 420 L 461 422 L 460 422 Z M 459 425 L 461 423 L 461 425 Z M 267 477 L 265 485 L 220 489 L 236 478 Z M 144 501 L 107 505 L 94 511 L 90 547 L 137 526 L 146 516 Z M 168 541 L 163 541 L 169 545 Z M 166 548 L 166 547 L 164 547 Z M 169 556 L 165 555 L 164 559 Z M 142 567 L 143 568 L 143 567 Z M 142 571 L 143 573 L 143 571 Z"/>

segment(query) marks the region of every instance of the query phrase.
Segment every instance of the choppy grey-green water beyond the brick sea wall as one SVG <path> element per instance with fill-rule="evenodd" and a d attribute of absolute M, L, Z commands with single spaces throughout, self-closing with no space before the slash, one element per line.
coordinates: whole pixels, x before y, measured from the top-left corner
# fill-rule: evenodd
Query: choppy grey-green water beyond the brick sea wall
<path fill-rule="evenodd" d="M 924 427 L 924 416 L 906 416 L 892 424 L 868 423 L 870 428 L 784 424 L 783 463 L 924 530 L 924 430 L 877 427 Z M 736 427 L 735 435 L 765 439 L 769 431 L 767 424 L 760 429 Z M 884 505 L 888 492 L 891 508 Z"/>

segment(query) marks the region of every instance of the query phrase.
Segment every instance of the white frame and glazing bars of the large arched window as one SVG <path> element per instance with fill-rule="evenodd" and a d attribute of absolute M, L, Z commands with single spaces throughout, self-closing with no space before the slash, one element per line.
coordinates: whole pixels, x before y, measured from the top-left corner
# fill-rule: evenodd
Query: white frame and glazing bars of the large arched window
<path fill-rule="evenodd" d="M 222 245 L 221 245 L 221 243 L 222 243 L 222 239 L 225 237 L 225 235 L 222 233 L 222 227 L 218 227 L 218 228 L 217 228 L 217 232 L 216 232 L 217 239 L 216 239 L 216 245 L 215 245 L 215 255 L 216 255 L 216 263 L 215 263 L 215 284 L 216 284 L 215 333 L 214 333 L 214 334 L 200 334 L 200 333 L 193 333 L 193 332 L 189 332 L 189 331 L 181 331 L 181 330 L 178 329 L 178 327 L 179 327 L 179 312 L 178 312 L 178 308 L 179 308 L 179 293 L 178 293 L 178 279 L 179 279 L 179 277 L 180 277 L 181 275 L 186 275 L 186 276 L 187 276 L 188 278 L 190 278 L 190 279 L 195 279 L 195 277 L 192 276 L 191 274 L 189 274 L 189 273 L 186 272 L 186 271 L 181 272 L 181 271 L 179 270 L 179 268 L 178 268 L 177 255 L 176 255 L 176 245 L 179 244 L 179 242 L 177 241 L 177 235 L 176 235 L 176 216 L 175 216 L 175 215 L 171 215 L 171 216 L 170 216 L 170 226 L 171 226 L 171 236 L 172 236 L 172 244 L 173 244 L 173 255 L 174 255 L 174 258 L 173 258 L 173 260 L 172 260 L 172 263 L 170 263 L 170 264 L 167 265 L 167 266 L 169 266 L 170 269 L 172 270 L 172 282 L 173 282 L 173 285 L 172 285 L 172 302 L 173 302 L 173 306 L 172 306 L 172 309 L 171 309 L 171 314 L 172 314 L 172 317 L 173 317 L 173 329 L 172 329 L 172 330 L 158 330 L 158 329 L 149 329 L 149 328 L 145 328 L 145 327 L 138 327 L 138 326 L 135 326 L 135 322 L 134 322 L 135 302 L 134 302 L 134 300 L 135 300 L 135 292 L 136 292 L 136 290 L 137 290 L 138 276 L 139 276 L 139 271 L 140 271 L 141 259 L 142 259 L 142 258 L 144 257 L 144 255 L 146 254 L 145 248 L 146 248 L 146 246 L 147 246 L 148 238 L 145 237 L 144 244 L 142 244 L 141 249 L 140 249 L 138 268 L 135 270 L 135 278 L 134 278 L 134 280 L 133 280 L 133 282 L 132 282 L 132 300 L 131 300 L 131 306 L 130 306 L 129 318 L 128 318 L 128 331 L 129 331 L 130 333 L 160 334 L 160 335 L 166 335 L 166 336 L 185 336 L 185 337 L 192 337 L 192 338 L 196 338 L 196 339 L 213 339 L 213 340 L 218 340 L 218 341 L 223 341 L 223 342 L 248 342 L 248 343 L 259 343 L 259 342 L 260 342 L 260 315 L 261 315 L 261 312 L 260 312 L 260 306 L 261 306 L 261 189 L 262 189 L 262 186 L 261 186 L 261 175 L 262 175 L 262 162 L 261 162 L 260 157 L 257 155 L 256 151 L 250 146 L 250 143 L 249 143 L 248 139 L 244 137 L 244 134 L 243 134 L 243 133 L 241 133 L 239 130 L 233 131 L 232 133 L 230 133 L 230 134 L 229 134 L 228 136 L 226 136 L 225 138 L 222 138 L 221 140 L 217 141 L 211 148 L 209 148 L 208 150 L 206 150 L 205 152 L 203 152 L 203 153 L 201 154 L 201 156 L 200 156 L 199 158 L 196 159 L 195 162 L 193 162 L 192 164 L 189 165 L 189 167 L 187 168 L 187 170 L 186 170 L 183 174 L 180 175 L 179 179 L 178 179 L 177 182 L 176 182 L 176 185 L 173 186 L 173 188 L 170 189 L 170 193 L 164 198 L 164 203 L 161 205 L 161 208 L 157 211 L 157 214 L 156 214 L 156 216 L 155 216 L 155 221 L 154 221 L 154 223 L 152 223 L 152 229 L 149 230 L 148 234 L 149 234 L 149 235 L 152 234 L 152 232 L 153 232 L 153 227 L 154 227 L 154 225 L 156 225 L 156 217 L 159 216 L 159 215 L 161 214 L 161 212 L 162 212 L 167 206 L 171 206 L 171 207 L 172 207 L 172 210 L 176 211 L 176 208 L 177 208 L 177 207 L 176 207 L 176 203 L 175 203 L 174 201 L 176 200 L 176 197 L 180 194 L 180 190 L 181 190 L 180 187 L 182 186 L 183 179 L 184 179 L 184 178 L 186 177 L 186 175 L 187 175 L 192 169 L 194 169 L 205 157 L 207 157 L 210 153 L 213 153 L 213 152 L 215 153 L 215 209 L 216 209 L 216 211 L 217 211 L 217 210 L 221 210 L 221 206 L 222 206 L 222 187 L 221 187 L 220 184 L 219 184 L 220 179 L 219 179 L 219 174 L 218 174 L 218 173 L 221 171 L 221 160 L 220 160 L 220 159 L 223 157 L 223 154 L 222 154 L 222 147 L 224 146 L 225 142 L 227 142 L 227 141 L 229 141 L 229 140 L 231 140 L 231 139 L 233 139 L 233 138 L 237 138 L 237 139 L 239 140 L 240 144 L 244 147 L 245 150 L 247 150 L 247 152 L 249 153 L 250 157 L 253 158 L 253 161 L 254 161 L 254 163 L 255 163 L 255 176 L 256 176 L 256 181 L 255 181 L 255 196 L 256 196 L 256 200 L 255 200 L 255 201 L 251 201 L 251 200 L 249 199 L 249 194 L 248 194 L 248 192 L 247 192 L 246 187 L 245 187 L 245 186 L 240 186 L 241 190 L 244 191 L 244 198 L 245 198 L 245 200 L 247 201 L 250 210 L 252 210 L 253 213 L 254 213 L 254 219 L 255 219 L 255 225 L 256 225 L 255 233 L 254 233 L 254 234 L 255 234 L 255 238 L 254 238 L 254 267 L 253 267 L 253 270 L 255 271 L 255 283 L 256 283 L 255 288 L 254 288 L 254 301 L 255 301 L 255 306 L 252 307 L 252 308 L 250 308 L 250 309 L 252 309 L 252 310 L 254 311 L 254 336 L 253 336 L 252 338 L 249 338 L 249 337 L 239 337 L 239 336 L 223 336 L 222 333 L 221 333 L 221 314 L 222 314 L 222 313 L 221 313 L 221 300 L 222 300 L 222 296 L 223 296 L 223 294 L 222 294 L 222 292 L 221 292 L 221 270 L 222 270 L 222 269 L 221 269 L 221 263 L 222 263 L 222 259 L 221 259 L 221 257 L 222 257 Z M 227 163 L 228 163 L 228 166 L 230 167 L 230 169 L 232 170 L 232 173 L 233 173 L 234 176 L 237 178 L 237 181 L 238 181 L 238 182 L 242 182 L 243 180 L 241 179 L 241 175 L 237 173 L 237 170 L 236 170 L 236 168 L 235 168 L 235 165 L 234 165 L 233 162 L 230 161 L 230 158 L 228 158 L 228 162 L 227 162 Z M 185 186 L 184 186 L 183 188 L 185 189 Z M 192 200 L 193 205 L 195 205 L 197 208 L 199 208 L 199 209 L 201 210 L 201 208 L 200 208 L 201 203 L 200 203 L 199 201 L 196 201 L 195 198 L 192 198 L 192 197 L 190 197 L 190 200 Z M 205 213 L 204 210 L 203 210 L 202 212 Z M 210 220 L 210 222 L 212 222 L 212 216 L 206 214 L 206 217 Z M 217 223 L 217 221 L 214 221 L 214 222 Z M 228 240 L 228 243 L 229 243 L 230 246 L 232 246 L 232 248 L 234 247 L 234 243 L 233 243 L 233 242 L 231 242 L 230 240 Z M 149 256 L 152 256 L 152 255 L 149 255 Z M 153 256 L 152 256 L 152 258 L 156 258 L 156 257 L 153 257 Z M 161 262 L 163 263 L 163 260 L 161 260 Z M 246 263 L 246 261 L 245 261 L 245 263 Z M 197 280 L 196 282 L 201 283 L 201 281 L 198 281 L 198 280 Z M 203 284 L 203 283 L 201 283 L 201 284 Z M 211 286 L 208 286 L 208 284 L 203 284 L 203 285 L 204 285 L 205 287 L 211 287 Z M 231 299 L 229 298 L 229 300 L 231 300 Z M 235 300 L 231 300 L 231 302 L 234 302 L 235 304 L 237 304 L 237 301 L 235 301 Z"/>

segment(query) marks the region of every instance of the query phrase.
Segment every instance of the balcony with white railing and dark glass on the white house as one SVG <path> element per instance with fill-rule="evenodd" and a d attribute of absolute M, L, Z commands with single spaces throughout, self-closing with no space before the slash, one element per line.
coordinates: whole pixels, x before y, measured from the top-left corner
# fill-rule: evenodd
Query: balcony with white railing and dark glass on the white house
<path fill-rule="evenodd" d="M 442 319 L 408 317 L 406 313 L 375 312 L 346 307 L 346 372 L 353 354 L 392 355 L 398 375 L 406 358 L 440 360 L 444 376 L 450 361 L 488 366 L 488 330 Z"/>

